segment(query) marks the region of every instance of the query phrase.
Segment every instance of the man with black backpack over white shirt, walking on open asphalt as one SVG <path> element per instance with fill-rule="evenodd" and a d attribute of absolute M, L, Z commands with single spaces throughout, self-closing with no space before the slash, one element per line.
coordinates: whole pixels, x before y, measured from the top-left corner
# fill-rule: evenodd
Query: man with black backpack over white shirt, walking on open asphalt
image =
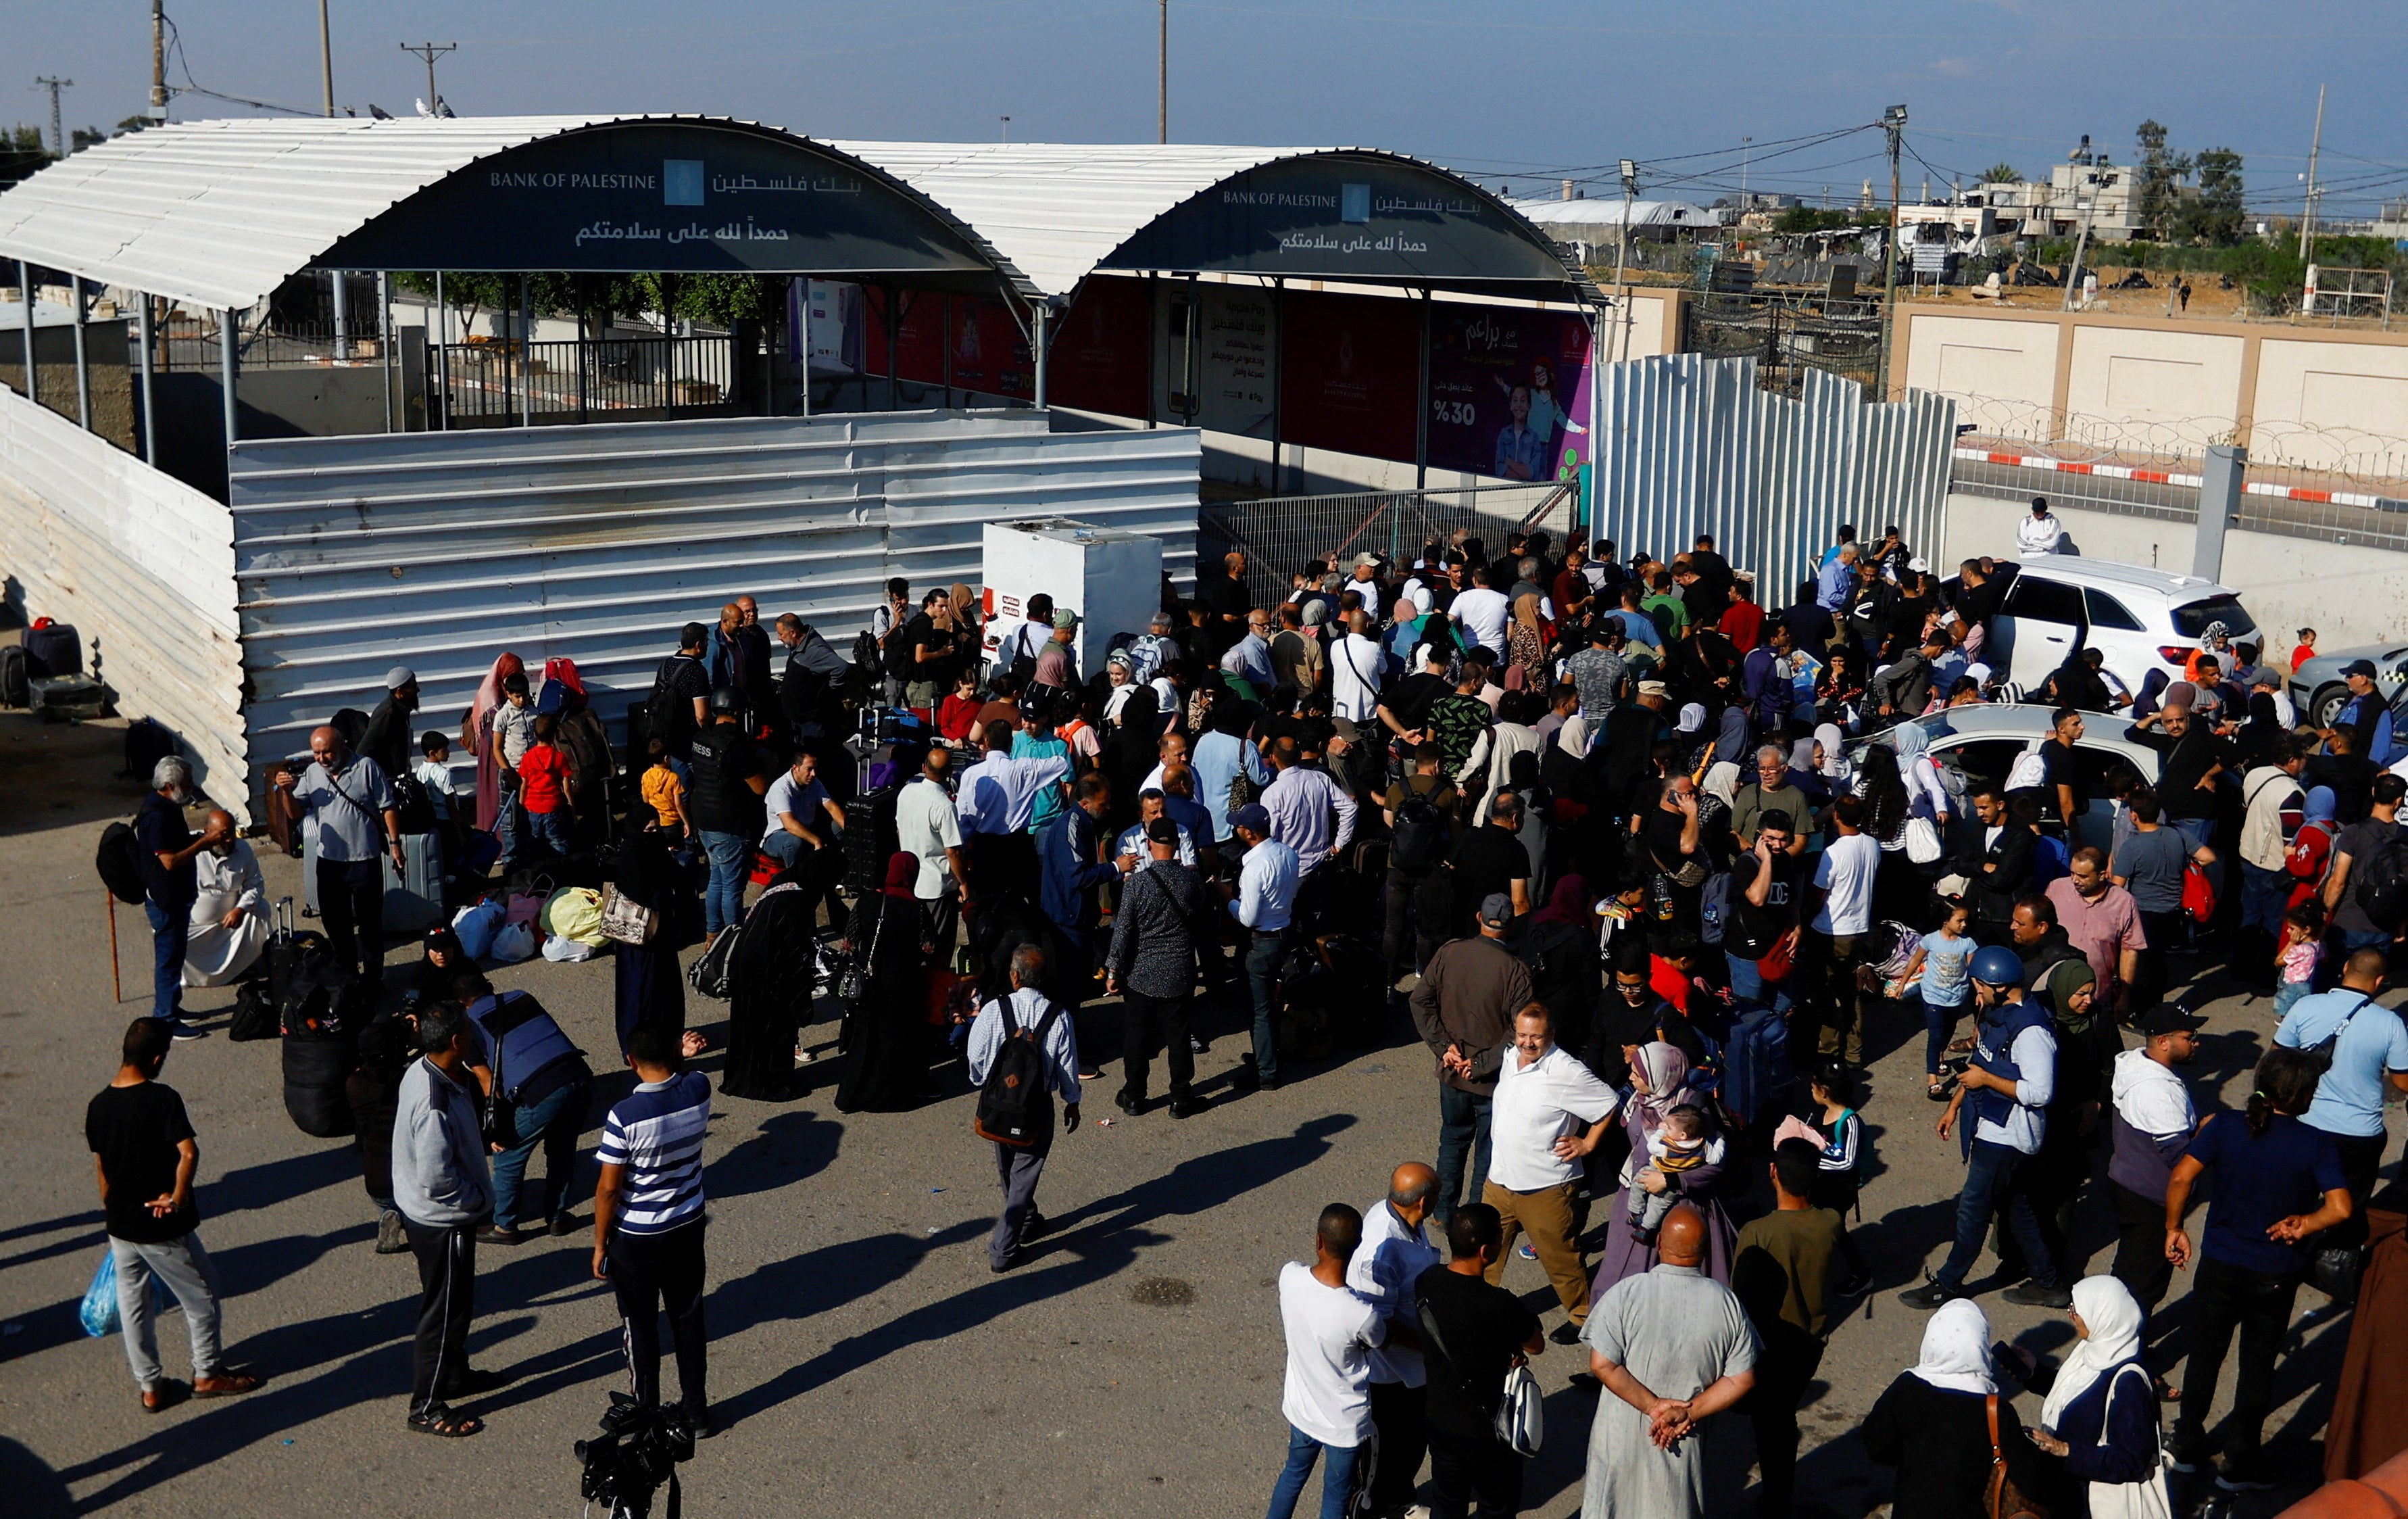
<path fill-rule="evenodd" d="M 1011 997 L 978 1009 L 970 1023 L 970 1083 L 978 1086 L 980 1139 L 995 1141 L 995 1175 L 1004 1184 L 1004 1211 L 987 1237 L 987 1269 L 1011 1271 L 1021 1245 L 1045 1233 L 1038 1213 L 1038 1177 L 1052 1151 L 1052 1100 L 1062 1095 L 1062 1131 L 1079 1131 L 1079 1052 L 1069 1018 L 1047 1001 L 1045 951 L 1023 944 L 1011 951 Z"/>

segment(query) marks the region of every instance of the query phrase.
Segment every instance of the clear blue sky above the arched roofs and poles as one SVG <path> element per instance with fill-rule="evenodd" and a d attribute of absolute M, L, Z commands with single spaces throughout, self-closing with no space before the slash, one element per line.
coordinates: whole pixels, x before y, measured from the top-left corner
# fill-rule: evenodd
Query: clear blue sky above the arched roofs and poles
<path fill-rule="evenodd" d="M 315 106 L 315 0 L 169 0 L 193 82 Z M 828 137 L 1127 142 L 1153 137 L 1153 0 L 332 0 L 335 96 L 407 113 L 441 60 L 462 113 L 708 111 Z M 2297 200 L 2316 84 L 2331 84 L 2329 214 L 2408 195 L 2401 7 L 2377 0 L 1690 0 L 1464 5 L 1226 0 L 1170 5 L 1180 142 L 1373 144 L 1536 193 L 1563 173 L 1712 200 L 1741 181 L 1845 197 L 1883 178 L 1881 135 L 1813 142 L 1912 111 L 1905 185 L 2006 159 L 2030 176 L 2090 132 L 2126 154 L 2146 118 L 2179 149 L 2237 147 L 2251 202 Z M 67 123 L 142 106 L 142 0 L 0 0 L 19 72 L 67 75 Z M 2353 41 L 2357 39 L 2357 41 Z M 0 120 L 46 120 L 12 84 Z M 181 96 L 176 116 L 248 113 Z M 1599 183 L 1592 193 L 1609 193 Z"/>

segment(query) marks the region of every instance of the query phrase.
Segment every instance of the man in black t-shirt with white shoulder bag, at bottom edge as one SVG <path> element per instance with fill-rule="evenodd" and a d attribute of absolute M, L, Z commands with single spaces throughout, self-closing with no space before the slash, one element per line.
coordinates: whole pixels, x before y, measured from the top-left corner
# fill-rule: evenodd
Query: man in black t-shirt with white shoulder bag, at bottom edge
<path fill-rule="evenodd" d="M 1423 1425 L 1430 1435 L 1430 1488 L 1438 1514 L 1464 1514 L 1479 1497 L 1481 1514 L 1522 1512 L 1522 1456 L 1498 1440 L 1505 1372 L 1524 1355 L 1541 1355 L 1539 1314 L 1481 1273 L 1505 1254 L 1505 1225 L 1488 1204 L 1464 1204 L 1447 1223 L 1445 1266 L 1413 1281 L 1421 1358 L 1428 1370 Z"/>

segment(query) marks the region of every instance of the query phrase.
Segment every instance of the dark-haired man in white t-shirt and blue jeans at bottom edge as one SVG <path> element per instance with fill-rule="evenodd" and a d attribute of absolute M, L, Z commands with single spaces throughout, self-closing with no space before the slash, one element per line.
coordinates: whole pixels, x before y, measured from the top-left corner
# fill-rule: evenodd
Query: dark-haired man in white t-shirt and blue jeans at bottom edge
<path fill-rule="evenodd" d="M 1387 1343 L 1380 1310 L 1346 1285 L 1346 1266 L 1361 1247 L 1363 1216 L 1329 1204 L 1312 1230 L 1312 1264 L 1279 1269 L 1279 1324 L 1288 1341 L 1279 1411 L 1288 1420 L 1288 1464 L 1271 1485 L 1269 1519 L 1293 1519 L 1322 1454 L 1329 1456 L 1322 1514 L 1353 1512 L 1373 1432 L 1370 1353 Z"/>

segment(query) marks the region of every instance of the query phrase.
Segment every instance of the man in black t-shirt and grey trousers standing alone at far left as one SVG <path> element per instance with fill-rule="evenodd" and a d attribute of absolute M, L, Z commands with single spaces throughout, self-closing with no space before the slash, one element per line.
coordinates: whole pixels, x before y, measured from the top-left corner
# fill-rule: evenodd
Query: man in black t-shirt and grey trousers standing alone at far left
<path fill-rule="evenodd" d="M 166 1283 L 193 1334 L 193 1394 L 222 1399 L 250 1391 L 258 1377 L 226 1372 L 217 1338 L 217 1271 L 200 1247 L 200 1208 L 193 1206 L 193 1172 L 200 1143 L 183 1098 L 159 1083 L 171 1035 L 159 1018 L 135 1018 L 125 1028 L 123 1064 L 84 1110 L 84 1143 L 99 1158 L 101 1218 L 118 1269 L 118 1317 L 125 1324 L 125 1360 L 132 1363 L 142 1406 L 157 1413 L 183 1391 L 159 1365 L 159 1329 L 152 1278 Z"/>

